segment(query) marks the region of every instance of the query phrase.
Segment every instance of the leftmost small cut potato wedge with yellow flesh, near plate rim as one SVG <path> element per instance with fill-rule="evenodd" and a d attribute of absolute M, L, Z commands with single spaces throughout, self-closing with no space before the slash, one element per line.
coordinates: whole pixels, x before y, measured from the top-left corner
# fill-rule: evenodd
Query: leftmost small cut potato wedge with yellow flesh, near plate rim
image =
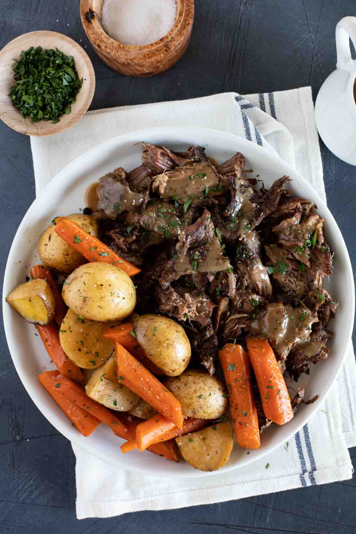
<path fill-rule="evenodd" d="M 52 289 L 42 279 L 20 284 L 7 295 L 6 302 L 28 323 L 39 325 L 48 325 L 56 311 Z"/>

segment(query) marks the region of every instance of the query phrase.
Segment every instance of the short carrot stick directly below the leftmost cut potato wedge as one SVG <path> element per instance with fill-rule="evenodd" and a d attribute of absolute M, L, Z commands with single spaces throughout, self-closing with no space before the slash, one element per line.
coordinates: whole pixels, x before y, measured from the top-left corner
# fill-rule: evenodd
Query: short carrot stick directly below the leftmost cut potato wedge
<path fill-rule="evenodd" d="M 53 323 L 45 326 L 36 325 L 36 329 L 41 336 L 49 357 L 58 368 L 58 371 L 75 382 L 81 382 L 83 380 L 83 373 L 80 368 L 68 358 L 65 351 L 62 349 L 58 330 Z"/>

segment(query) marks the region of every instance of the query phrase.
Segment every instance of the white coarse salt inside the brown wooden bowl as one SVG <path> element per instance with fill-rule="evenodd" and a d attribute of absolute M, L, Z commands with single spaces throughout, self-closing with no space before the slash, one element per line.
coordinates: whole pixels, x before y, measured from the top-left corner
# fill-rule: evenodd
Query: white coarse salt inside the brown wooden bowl
<path fill-rule="evenodd" d="M 176 11 L 175 0 L 104 0 L 101 20 L 115 41 L 140 46 L 168 34 Z"/>

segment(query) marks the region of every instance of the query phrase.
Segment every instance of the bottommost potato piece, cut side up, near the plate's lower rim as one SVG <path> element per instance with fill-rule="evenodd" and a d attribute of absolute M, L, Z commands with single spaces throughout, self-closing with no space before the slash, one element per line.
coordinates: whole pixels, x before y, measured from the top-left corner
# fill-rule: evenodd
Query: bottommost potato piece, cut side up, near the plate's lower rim
<path fill-rule="evenodd" d="M 230 421 L 176 437 L 181 456 L 195 469 L 216 471 L 230 458 L 234 444 Z"/>

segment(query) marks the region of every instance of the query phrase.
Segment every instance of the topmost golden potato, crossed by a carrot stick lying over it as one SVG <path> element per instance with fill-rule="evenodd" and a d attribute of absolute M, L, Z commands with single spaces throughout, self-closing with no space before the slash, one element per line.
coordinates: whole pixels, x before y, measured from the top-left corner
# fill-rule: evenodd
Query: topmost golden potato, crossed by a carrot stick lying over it
<path fill-rule="evenodd" d="M 74 221 L 85 230 L 85 232 L 99 237 L 99 226 L 97 221 L 89 215 L 74 213 L 66 217 L 69 221 Z M 38 252 L 41 261 L 51 269 L 59 272 L 70 273 L 79 265 L 86 262 L 86 259 L 73 247 L 68 245 L 64 239 L 59 237 L 54 231 L 56 219 L 49 225 L 38 241 Z"/>

